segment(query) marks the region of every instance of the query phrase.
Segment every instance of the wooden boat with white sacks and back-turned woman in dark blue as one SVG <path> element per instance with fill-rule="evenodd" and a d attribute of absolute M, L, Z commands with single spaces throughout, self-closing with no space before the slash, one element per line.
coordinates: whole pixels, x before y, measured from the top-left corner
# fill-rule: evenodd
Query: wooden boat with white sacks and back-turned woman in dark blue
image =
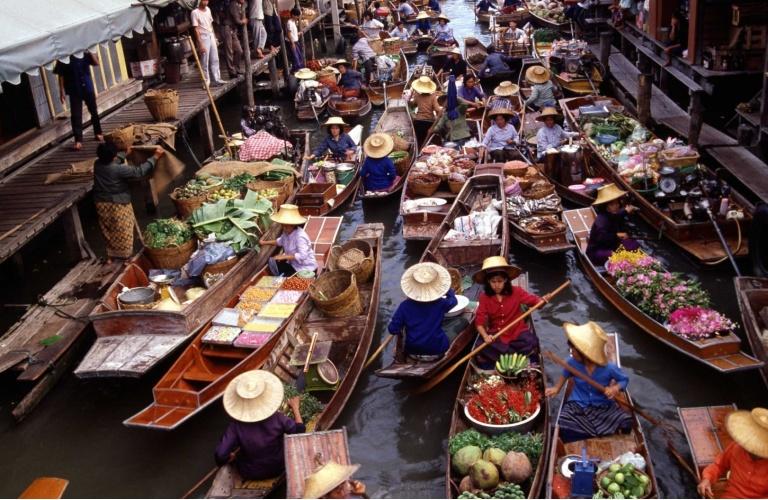
<path fill-rule="evenodd" d="M 500 170 L 500 166 L 495 167 Z M 488 171 L 488 170 L 486 170 Z M 446 241 L 445 236 L 453 228 L 453 222 L 468 215 L 472 208 L 485 203 L 488 199 L 503 200 L 504 185 L 498 173 L 476 174 L 467 180 L 453 202 L 450 211 L 441 222 L 437 232 L 430 240 L 421 256 L 420 262 L 436 262 L 446 268 L 456 268 L 462 276 L 472 276 L 479 271 L 483 259 L 495 255 L 509 254 L 509 224 L 507 209 L 502 206 L 502 219 L 496 238 L 491 240 Z M 477 300 L 481 286 L 472 286 L 462 291 L 469 300 Z M 444 322 L 446 333 L 455 334 L 445 355 L 436 361 L 417 361 L 405 354 L 405 339 L 398 336 L 395 358 L 388 366 L 376 370 L 376 375 L 398 379 L 428 379 L 453 361 L 475 338 L 474 311 L 467 312 Z M 450 335 L 449 335 L 450 336 Z"/>

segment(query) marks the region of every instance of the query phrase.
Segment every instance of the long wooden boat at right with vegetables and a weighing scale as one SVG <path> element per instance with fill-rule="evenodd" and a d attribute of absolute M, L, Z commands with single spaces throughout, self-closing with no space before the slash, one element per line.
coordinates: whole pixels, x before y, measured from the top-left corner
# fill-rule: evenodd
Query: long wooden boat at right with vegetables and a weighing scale
<path fill-rule="evenodd" d="M 623 109 L 618 101 L 610 97 L 572 97 L 560 101 L 563 113 L 573 130 L 580 130 L 579 107 L 592 105 L 596 102 L 607 103 L 609 108 Z M 682 202 L 670 202 L 669 210 L 662 211 L 654 204 L 654 200 L 648 199 L 618 173 L 616 164 L 605 159 L 592 140 L 587 141 L 587 143 L 594 153 L 593 157 L 596 161 L 592 162 L 592 168 L 597 176 L 605 178 L 608 182 L 614 182 L 621 189 L 629 192 L 634 203 L 640 208 L 640 215 L 656 231 L 664 234 L 677 246 L 701 262 L 713 263 L 725 258 L 725 251 L 709 220 L 689 221 L 684 213 L 685 204 Z M 709 175 L 714 178 L 714 174 L 711 172 Z M 718 216 L 717 223 L 732 251 L 737 249 L 733 253 L 737 256 L 746 256 L 749 247 L 746 234 L 751 225 L 751 214 L 754 212 L 754 206 L 735 190 L 731 190 L 729 197 L 732 203 L 743 208 L 744 219 L 741 221 L 726 220 Z M 739 241 L 741 241 L 741 245 L 739 245 Z"/>

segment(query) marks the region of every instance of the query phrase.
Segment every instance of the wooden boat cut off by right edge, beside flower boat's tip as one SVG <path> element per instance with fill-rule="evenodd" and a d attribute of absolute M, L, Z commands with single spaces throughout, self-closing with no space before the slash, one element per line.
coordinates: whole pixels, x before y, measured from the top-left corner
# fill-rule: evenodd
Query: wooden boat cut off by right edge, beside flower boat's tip
<path fill-rule="evenodd" d="M 741 310 L 741 324 L 752 353 L 763 363 L 760 375 L 768 386 L 768 345 L 763 343 L 768 330 L 768 278 L 733 278 L 736 299 Z"/>

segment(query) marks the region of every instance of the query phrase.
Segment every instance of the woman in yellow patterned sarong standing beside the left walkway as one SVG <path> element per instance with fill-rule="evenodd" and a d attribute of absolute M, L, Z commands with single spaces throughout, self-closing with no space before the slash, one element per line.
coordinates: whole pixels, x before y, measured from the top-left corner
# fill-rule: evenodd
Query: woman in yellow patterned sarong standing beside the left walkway
<path fill-rule="evenodd" d="M 133 228 L 136 215 L 131 205 L 129 181 L 141 179 L 155 168 L 165 150 L 158 146 L 155 153 L 141 165 L 128 163 L 126 155 L 131 146 L 119 151 L 113 142 L 101 142 L 96 147 L 93 163 L 93 201 L 99 219 L 99 229 L 107 246 L 107 263 L 112 259 L 128 259 L 133 255 Z"/>

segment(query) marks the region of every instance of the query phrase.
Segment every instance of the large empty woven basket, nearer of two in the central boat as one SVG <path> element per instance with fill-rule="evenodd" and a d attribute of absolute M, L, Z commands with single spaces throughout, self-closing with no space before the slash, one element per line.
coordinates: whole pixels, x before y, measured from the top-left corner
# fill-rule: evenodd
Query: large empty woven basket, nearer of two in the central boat
<path fill-rule="evenodd" d="M 346 318 L 363 312 L 354 273 L 328 271 L 309 285 L 309 296 L 315 306 L 331 318 Z"/>

